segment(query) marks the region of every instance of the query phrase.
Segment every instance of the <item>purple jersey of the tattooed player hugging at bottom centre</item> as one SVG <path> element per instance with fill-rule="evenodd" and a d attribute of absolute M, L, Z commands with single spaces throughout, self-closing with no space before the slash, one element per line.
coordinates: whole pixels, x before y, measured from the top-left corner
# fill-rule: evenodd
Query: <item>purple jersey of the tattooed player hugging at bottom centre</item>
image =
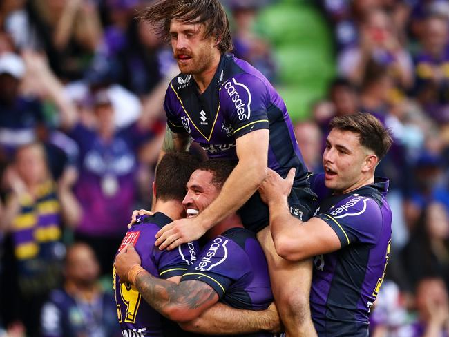
<path fill-rule="evenodd" d="M 273 302 L 265 255 L 256 235 L 244 228 L 233 228 L 213 238 L 181 282 L 199 280 L 211 286 L 220 302 L 237 309 L 263 310 Z M 249 334 L 233 336 L 273 336 Z"/>

